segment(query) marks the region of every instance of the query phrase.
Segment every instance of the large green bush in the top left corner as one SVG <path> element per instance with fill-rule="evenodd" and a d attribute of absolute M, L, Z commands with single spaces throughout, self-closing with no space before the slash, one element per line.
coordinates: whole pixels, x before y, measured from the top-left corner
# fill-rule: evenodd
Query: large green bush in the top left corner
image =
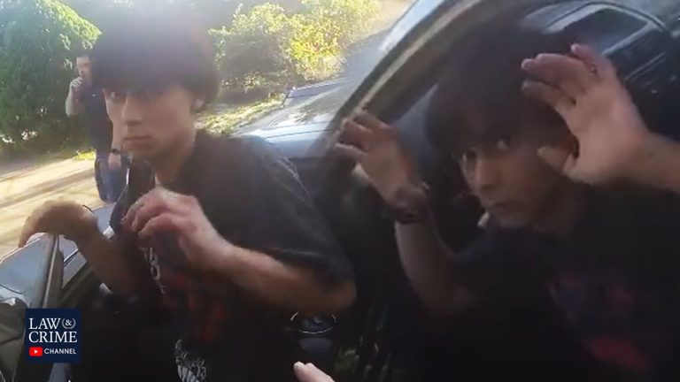
<path fill-rule="evenodd" d="M 53 0 L 16 0 L 0 9 L 0 137 L 19 149 L 79 141 L 64 101 L 73 79 L 73 50 L 99 31 Z"/>

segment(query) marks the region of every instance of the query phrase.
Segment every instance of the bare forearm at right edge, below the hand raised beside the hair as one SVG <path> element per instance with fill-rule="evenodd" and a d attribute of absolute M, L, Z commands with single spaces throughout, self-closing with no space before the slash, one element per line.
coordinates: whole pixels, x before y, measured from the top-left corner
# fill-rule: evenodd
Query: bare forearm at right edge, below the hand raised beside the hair
<path fill-rule="evenodd" d="M 630 172 L 630 180 L 680 194 L 680 144 L 651 135 L 643 155 Z"/>

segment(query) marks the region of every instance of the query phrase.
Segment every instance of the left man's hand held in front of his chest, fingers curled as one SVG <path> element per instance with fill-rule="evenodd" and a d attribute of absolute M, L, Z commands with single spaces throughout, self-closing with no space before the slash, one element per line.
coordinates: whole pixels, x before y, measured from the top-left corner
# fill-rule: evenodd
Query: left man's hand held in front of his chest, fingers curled
<path fill-rule="evenodd" d="M 184 256 L 197 270 L 209 269 L 214 257 L 231 247 L 205 217 L 195 197 L 164 187 L 156 187 L 137 200 L 122 223 L 141 238 L 156 233 L 176 234 Z"/>

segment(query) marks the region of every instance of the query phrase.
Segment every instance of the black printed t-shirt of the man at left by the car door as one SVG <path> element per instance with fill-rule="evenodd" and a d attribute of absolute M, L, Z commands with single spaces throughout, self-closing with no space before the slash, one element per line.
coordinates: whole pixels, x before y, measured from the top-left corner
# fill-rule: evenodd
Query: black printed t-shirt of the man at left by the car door
<path fill-rule="evenodd" d="M 192 274 L 171 234 L 143 243 L 123 232 L 120 219 L 151 189 L 153 176 L 137 163 L 129 182 L 111 225 L 128 255 L 146 259 L 151 271 L 140 277 L 151 275 L 163 306 L 184 329 L 175 348 L 183 380 L 292 378 L 295 355 L 282 329 L 294 312 L 269 307 L 228 280 Z M 216 230 L 239 247 L 304 265 L 324 287 L 352 279 L 350 265 L 293 166 L 266 141 L 199 132 L 179 180 L 168 188 L 197 197 Z"/>

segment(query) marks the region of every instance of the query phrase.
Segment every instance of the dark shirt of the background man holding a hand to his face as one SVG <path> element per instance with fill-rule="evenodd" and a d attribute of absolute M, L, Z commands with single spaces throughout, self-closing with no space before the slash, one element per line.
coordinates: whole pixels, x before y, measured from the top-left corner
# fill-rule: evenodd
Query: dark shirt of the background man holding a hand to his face
<path fill-rule="evenodd" d="M 82 118 L 88 131 L 89 142 L 96 150 L 108 152 L 112 141 L 112 124 L 106 113 L 106 103 L 101 88 L 83 85 L 78 98 L 83 112 Z"/>

